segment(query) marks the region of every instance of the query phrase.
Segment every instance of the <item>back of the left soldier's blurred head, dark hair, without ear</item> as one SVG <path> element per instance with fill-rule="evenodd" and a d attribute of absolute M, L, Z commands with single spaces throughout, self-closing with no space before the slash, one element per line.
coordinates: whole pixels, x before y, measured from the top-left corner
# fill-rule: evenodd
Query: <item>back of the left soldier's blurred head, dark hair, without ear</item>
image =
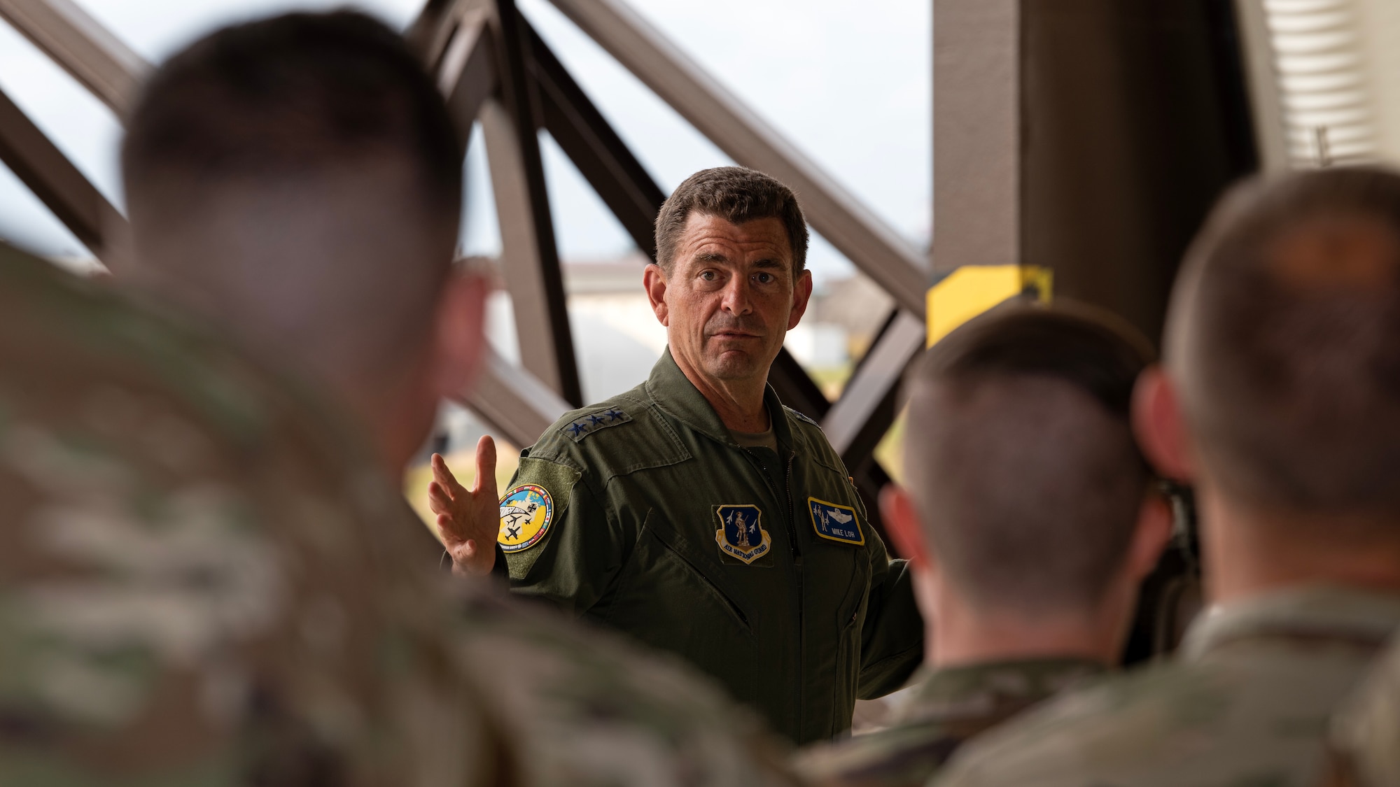
<path fill-rule="evenodd" d="M 398 34 L 349 11 L 220 29 L 161 66 L 127 129 L 136 277 L 333 382 L 412 360 L 462 147 Z"/>

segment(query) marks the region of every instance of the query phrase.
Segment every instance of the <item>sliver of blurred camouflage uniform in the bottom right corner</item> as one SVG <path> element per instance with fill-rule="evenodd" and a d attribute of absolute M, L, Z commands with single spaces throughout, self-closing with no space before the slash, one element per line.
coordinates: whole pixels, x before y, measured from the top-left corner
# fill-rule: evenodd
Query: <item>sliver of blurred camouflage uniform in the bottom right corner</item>
<path fill-rule="evenodd" d="M 1336 783 L 1400 786 L 1400 639 L 1338 714 L 1331 741 Z"/>

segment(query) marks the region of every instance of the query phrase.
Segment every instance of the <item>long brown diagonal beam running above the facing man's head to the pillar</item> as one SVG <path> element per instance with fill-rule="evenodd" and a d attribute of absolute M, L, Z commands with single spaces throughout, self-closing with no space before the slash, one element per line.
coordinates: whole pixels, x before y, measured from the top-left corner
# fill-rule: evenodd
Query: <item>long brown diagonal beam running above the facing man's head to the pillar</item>
<path fill-rule="evenodd" d="M 923 255 L 619 0 L 550 0 L 745 167 L 797 192 L 808 221 L 895 301 L 924 316 Z"/>

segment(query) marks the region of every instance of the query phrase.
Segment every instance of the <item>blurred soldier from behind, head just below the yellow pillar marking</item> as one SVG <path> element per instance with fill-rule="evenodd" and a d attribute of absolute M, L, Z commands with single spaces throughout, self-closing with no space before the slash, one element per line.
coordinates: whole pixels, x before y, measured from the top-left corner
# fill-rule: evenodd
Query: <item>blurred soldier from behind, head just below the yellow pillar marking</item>
<path fill-rule="evenodd" d="M 883 731 L 802 752 L 813 781 L 924 784 L 972 735 L 1117 661 L 1172 517 L 1133 441 L 1145 339 L 1077 311 L 1002 307 L 906 381 L 910 556 L 930 674 Z"/>

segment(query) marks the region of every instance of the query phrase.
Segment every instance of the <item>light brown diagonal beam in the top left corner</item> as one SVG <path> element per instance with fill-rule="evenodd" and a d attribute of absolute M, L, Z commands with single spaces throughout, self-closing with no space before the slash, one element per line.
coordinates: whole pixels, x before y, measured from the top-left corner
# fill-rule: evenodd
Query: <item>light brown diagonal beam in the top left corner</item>
<path fill-rule="evenodd" d="M 118 119 L 126 116 L 151 67 L 73 0 L 0 0 L 0 17 L 106 104 Z"/>

